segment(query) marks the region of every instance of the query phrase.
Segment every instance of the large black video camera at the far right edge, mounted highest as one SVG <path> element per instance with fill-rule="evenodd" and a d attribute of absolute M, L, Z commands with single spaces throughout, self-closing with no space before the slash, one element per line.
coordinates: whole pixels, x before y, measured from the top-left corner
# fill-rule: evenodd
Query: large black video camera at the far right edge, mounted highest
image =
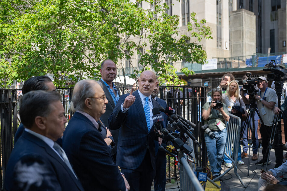
<path fill-rule="evenodd" d="M 270 71 L 270 74 L 267 74 L 268 80 L 274 80 L 275 82 L 287 80 L 287 69 L 282 64 L 276 64 L 275 60 L 271 60 L 269 64 L 266 64 L 263 71 Z"/>

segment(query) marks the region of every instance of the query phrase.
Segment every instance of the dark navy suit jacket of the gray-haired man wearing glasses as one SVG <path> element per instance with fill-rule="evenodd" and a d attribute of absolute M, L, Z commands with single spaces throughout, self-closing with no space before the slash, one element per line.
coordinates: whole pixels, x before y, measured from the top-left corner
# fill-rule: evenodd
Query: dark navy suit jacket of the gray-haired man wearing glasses
<path fill-rule="evenodd" d="M 106 142 L 83 114 L 75 112 L 64 131 L 62 144 L 86 191 L 126 190 Z"/>

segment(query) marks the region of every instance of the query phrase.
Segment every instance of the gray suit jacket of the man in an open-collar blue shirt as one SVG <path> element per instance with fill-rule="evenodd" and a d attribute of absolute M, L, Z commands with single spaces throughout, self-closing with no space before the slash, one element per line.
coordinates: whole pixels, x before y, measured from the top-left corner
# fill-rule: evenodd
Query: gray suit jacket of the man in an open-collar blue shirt
<path fill-rule="evenodd" d="M 105 92 L 105 95 L 107 97 L 107 100 L 109 101 L 109 103 L 106 104 L 106 112 L 101 116 L 101 119 L 102 121 L 104 122 L 105 125 L 108 124 L 108 119 L 110 117 L 110 115 L 112 114 L 113 112 L 113 109 L 115 108 L 115 102 L 113 101 L 113 97 L 112 95 L 110 94 L 110 91 L 108 90 L 107 86 L 104 84 L 104 82 L 102 80 L 99 80 L 100 83 L 103 84 L 103 90 Z M 120 93 L 120 89 L 115 85 L 116 87 L 116 90 L 118 90 L 118 94 L 119 96 L 121 96 L 121 93 Z M 109 126 L 108 126 L 108 129 L 111 129 Z M 117 143 L 118 143 L 118 137 L 119 137 L 119 129 L 116 129 L 116 130 L 111 130 L 111 133 L 113 135 L 113 139 L 114 139 L 114 142 L 117 146 Z M 116 146 L 114 148 L 112 148 L 112 155 L 116 154 Z"/>

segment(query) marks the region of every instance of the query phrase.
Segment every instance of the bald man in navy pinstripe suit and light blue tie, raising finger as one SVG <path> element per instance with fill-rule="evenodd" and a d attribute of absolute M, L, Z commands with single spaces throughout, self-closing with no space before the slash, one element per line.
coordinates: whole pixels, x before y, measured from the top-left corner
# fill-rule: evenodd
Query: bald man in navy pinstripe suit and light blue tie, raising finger
<path fill-rule="evenodd" d="M 152 108 L 160 105 L 151 98 L 156 76 L 142 72 L 139 90 L 122 95 L 109 117 L 110 129 L 119 129 L 116 163 L 131 190 L 150 190 L 155 176 L 155 142 L 161 141 L 152 127 Z"/>

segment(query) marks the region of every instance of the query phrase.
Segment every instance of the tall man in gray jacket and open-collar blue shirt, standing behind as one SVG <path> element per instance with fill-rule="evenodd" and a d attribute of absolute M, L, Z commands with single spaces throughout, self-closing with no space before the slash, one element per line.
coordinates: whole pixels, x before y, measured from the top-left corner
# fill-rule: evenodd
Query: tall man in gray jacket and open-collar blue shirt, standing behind
<path fill-rule="evenodd" d="M 101 116 L 101 119 L 103 120 L 104 124 L 107 125 L 108 118 L 112 114 L 113 109 L 115 108 L 116 103 L 121 96 L 120 89 L 113 84 L 113 80 L 116 78 L 116 64 L 109 59 L 104 60 L 101 63 L 100 73 L 102 75 L 100 83 L 102 83 L 106 98 L 109 101 L 109 103 L 107 103 L 106 105 L 106 113 Z M 110 129 L 110 127 L 107 128 Z M 111 154 L 113 155 L 114 161 L 116 161 L 116 147 L 118 143 L 119 131 L 119 129 L 110 130 L 116 144 L 116 146 L 113 147 L 111 150 Z"/>

